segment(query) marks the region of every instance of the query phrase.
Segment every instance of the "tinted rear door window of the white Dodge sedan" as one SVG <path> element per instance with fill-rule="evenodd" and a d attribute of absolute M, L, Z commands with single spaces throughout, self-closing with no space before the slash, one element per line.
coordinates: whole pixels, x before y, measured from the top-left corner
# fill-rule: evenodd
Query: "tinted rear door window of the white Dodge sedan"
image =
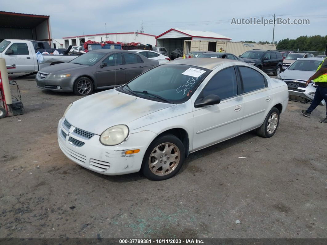
<path fill-rule="evenodd" d="M 239 66 L 238 68 L 241 73 L 244 93 L 266 87 L 266 79 L 260 72 L 246 66 Z"/>

